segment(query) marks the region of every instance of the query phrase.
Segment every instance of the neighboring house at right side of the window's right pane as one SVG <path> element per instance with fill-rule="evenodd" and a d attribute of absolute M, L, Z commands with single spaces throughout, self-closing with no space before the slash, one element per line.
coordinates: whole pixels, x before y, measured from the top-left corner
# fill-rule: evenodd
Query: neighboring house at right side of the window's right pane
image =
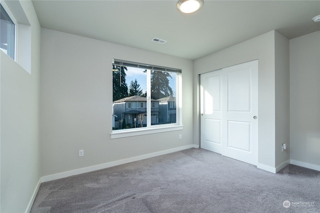
<path fill-rule="evenodd" d="M 175 97 L 167 96 L 157 99 L 159 101 L 159 123 L 176 122 Z"/>

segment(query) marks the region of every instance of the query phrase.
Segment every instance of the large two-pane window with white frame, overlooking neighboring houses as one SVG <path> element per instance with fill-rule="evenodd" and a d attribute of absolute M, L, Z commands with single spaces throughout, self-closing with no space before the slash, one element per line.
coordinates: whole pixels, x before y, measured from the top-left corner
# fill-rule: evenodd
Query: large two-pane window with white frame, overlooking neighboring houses
<path fill-rule="evenodd" d="M 181 109 L 172 109 L 168 117 L 168 108 L 165 109 L 160 104 L 170 100 L 172 105 L 174 102 L 179 106 L 180 69 L 114 59 L 112 81 L 113 102 L 126 102 L 126 108 L 113 108 L 118 116 L 115 118 L 111 138 L 121 137 L 113 135 L 127 132 L 143 134 L 142 131 L 160 127 L 178 130 L 178 126 L 182 129 Z"/>

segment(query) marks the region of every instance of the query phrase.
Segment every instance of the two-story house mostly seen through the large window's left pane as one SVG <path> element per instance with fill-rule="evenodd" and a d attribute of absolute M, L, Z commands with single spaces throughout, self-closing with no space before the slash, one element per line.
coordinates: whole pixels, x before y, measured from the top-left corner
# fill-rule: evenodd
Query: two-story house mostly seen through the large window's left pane
<path fill-rule="evenodd" d="M 144 114 L 142 125 L 146 125 L 146 97 L 141 96 L 129 96 L 113 101 L 113 114 L 116 115 L 115 121 L 120 123 L 115 124 L 117 128 L 124 128 L 128 126 L 129 128 L 134 128 L 135 126 L 140 126 L 140 121 L 138 115 L 140 113 Z M 134 120 L 134 118 L 136 118 Z M 125 125 L 122 126 L 121 119 L 125 120 Z M 123 122 L 123 120 L 122 120 Z M 159 101 L 151 99 L 151 124 L 157 124 L 159 122 Z"/>

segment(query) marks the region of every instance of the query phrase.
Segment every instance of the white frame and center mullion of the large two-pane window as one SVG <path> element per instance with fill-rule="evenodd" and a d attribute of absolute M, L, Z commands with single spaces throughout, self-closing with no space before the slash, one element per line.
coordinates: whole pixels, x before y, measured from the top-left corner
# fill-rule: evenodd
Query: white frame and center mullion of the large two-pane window
<path fill-rule="evenodd" d="M 140 64 L 131 61 L 124 61 L 114 59 L 114 61 L 120 61 L 121 65 L 128 66 L 127 64 L 135 64 L 135 67 L 145 68 L 146 75 L 147 75 L 147 96 L 146 96 L 146 123 L 147 127 L 140 127 L 140 128 L 129 128 L 129 129 L 117 129 L 112 130 L 110 135 L 111 139 L 113 138 L 121 138 L 121 137 L 128 137 L 128 136 L 136 136 L 136 135 L 143 135 L 143 134 L 151 134 L 151 133 L 159 133 L 159 132 L 166 132 L 166 131 L 175 131 L 175 130 L 182 130 L 182 72 L 181 69 L 172 69 L 163 66 L 153 66 L 149 64 Z M 113 61 L 113 63 L 114 63 Z M 118 64 L 115 64 L 118 65 Z M 111 67 L 111 66 L 110 66 Z M 176 74 L 176 122 L 175 123 L 166 123 L 166 124 L 156 124 L 151 125 L 151 70 L 161 70 L 167 72 L 175 72 Z"/>

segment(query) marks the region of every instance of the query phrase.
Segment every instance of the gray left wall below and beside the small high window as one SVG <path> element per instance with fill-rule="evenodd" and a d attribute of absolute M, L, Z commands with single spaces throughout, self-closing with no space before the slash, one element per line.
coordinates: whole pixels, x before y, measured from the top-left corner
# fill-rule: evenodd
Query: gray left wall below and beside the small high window
<path fill-rule="evenodd" d="M 29 201 L 41 175 L 38 150 L 40 26 L 31 1 L 20 3 L 31 25 L 31 74 L 0 50 L 1 212 L 26 211 L 32 204 Z"/>

